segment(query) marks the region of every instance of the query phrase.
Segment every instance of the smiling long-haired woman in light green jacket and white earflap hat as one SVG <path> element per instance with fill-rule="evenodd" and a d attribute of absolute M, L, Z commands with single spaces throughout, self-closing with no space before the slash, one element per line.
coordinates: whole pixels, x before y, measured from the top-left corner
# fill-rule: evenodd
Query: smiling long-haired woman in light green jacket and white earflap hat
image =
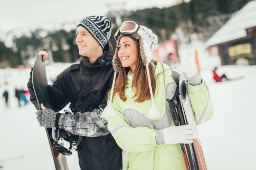
<path fill-rule="evenodd" d="M 147 27 L 125 21 L 115 38 L 115 74 L 102 116 L 123 149 L 123 170 L 186 170 L 179 143 L 192 143 L 197 134 L 191 125 L 173 126 L 166 102 L 175 92 L 170 68 L 151 61 L 156 35 Z M 211 101 L 195 66 L 186 61 L 178 70 L 188 78 L 195 118 L 203 115 L 209 120 L 213 114 Z M 205 109 L 208 112 L 203 114 Z"/>

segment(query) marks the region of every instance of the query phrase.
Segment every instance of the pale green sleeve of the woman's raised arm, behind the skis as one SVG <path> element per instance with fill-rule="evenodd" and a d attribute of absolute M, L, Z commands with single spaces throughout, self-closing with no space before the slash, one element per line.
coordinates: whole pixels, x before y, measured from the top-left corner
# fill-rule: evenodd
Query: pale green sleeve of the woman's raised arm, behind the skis
<path fill-rule="evenodd" d="M 213 116 L 213 104 L 207 85 L 201 80 L 200 85 L 187 84 L 196 124 L 202 124 Z"/>

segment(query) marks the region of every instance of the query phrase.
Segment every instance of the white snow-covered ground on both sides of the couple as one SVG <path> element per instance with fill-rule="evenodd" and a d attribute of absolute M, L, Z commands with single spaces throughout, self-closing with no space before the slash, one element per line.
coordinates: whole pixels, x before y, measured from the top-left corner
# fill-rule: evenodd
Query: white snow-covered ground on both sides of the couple
<path fill-rule="evenodd" d="M 211 91 L 214 116 L 198 126 L 209 170 L 256 170 L 256 66 L 222 66 L 219 73 L 241 80 L 214 83 L 216 58 L 202 58 L 201 76 Z M 47 66 L 54 78 L 70 64 Z M 54 170 L 44 128 L 35 119 L 31 103 L 18 107 L 14 88 L 26 88 L 30 69 L 0 69 L 0 95 L 9 90 L 10 107 L 0 98 L 0 170 Z M 8 81 L 8 85 L 3 85 Z M 79 170 L 77 154 L 67 157 L 69 169 Z"/>

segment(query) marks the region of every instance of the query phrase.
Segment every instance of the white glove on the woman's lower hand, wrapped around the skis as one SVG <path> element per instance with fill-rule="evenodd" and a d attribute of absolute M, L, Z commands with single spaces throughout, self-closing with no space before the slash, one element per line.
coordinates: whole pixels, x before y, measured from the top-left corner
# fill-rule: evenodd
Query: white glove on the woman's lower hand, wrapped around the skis
<path fill-rule="evenodd" d="M 196 125 L 170 126 L 162 129 L 165 144 L 192 143 L 198 138 Z"/>

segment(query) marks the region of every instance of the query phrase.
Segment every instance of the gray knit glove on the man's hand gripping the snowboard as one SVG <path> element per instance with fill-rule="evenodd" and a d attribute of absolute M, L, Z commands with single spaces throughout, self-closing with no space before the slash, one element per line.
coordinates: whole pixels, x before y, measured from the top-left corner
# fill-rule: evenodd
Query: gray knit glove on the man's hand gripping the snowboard
<path fill-rule="evenodd" d="M 46 108 L 45 110 L 36 111 L 36 115 L 40 126 L 55 127 L 57 112 Z"/>

